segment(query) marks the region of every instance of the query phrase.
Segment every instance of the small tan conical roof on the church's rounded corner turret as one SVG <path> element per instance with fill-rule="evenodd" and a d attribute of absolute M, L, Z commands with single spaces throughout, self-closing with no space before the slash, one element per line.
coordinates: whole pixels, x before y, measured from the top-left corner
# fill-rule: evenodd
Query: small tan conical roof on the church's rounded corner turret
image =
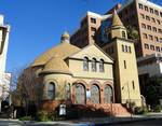
<path fill-rule="evenodd" d="M 64 73 L 71 74 L 67 64 L 58 55 L 55 55 L 46 62 L 41 73 Z"/>

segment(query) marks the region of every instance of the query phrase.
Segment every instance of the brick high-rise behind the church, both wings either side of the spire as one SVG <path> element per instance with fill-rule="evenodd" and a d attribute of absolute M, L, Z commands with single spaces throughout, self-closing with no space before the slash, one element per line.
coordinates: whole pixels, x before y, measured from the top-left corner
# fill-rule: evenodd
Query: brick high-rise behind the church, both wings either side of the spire
<path fill-rule="evenodd" d="M 92 42 L 96 42 L 98 45 L 103 44 L 105 28 L 109 24 L 110 14 L 114 9 L 125 27 L 135 27 L 139 32 L 139 41 L 135 44 L 137 57 L 162 52 L 162 8 L 148 0 L 127 0 L 123 5 L 114 5 L 105 16 L 99 14 L 95 14 L 97 15 L 95 16 L 89 12 L 83 19 L 84 22 L 81 22 L 82 25 L 79 30 L 71 36 L 75 45 L 82 47 Z M 91 18 L 97 20 L 96 24 Z M 85 28 L 83 24 L 86 24 Z M 78 41 L 73 38 L 78 38 Z"/>

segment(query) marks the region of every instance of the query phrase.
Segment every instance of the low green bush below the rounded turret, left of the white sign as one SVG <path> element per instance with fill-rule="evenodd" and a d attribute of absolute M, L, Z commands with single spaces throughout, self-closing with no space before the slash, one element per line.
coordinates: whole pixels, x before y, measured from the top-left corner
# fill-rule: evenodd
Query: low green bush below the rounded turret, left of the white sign
<path fill-rule="evenodd" d="M 49 121 L 49 114 L 48 114 L 48 112 L 46 111 L 39 111 L 37 113 L 37 120 L 39 122 L 46 122 L 46 121 Z"/>

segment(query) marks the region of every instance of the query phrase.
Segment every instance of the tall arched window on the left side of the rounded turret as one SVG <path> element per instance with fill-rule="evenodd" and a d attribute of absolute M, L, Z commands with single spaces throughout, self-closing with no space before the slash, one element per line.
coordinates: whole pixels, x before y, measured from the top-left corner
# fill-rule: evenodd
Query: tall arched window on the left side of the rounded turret
<path fill-rule="evenodd" d="M 50 100 L 55 98 L 55 83 L 53 83 L 53 82 L 50 82 L 48 84 L 48 98 Z"/>

